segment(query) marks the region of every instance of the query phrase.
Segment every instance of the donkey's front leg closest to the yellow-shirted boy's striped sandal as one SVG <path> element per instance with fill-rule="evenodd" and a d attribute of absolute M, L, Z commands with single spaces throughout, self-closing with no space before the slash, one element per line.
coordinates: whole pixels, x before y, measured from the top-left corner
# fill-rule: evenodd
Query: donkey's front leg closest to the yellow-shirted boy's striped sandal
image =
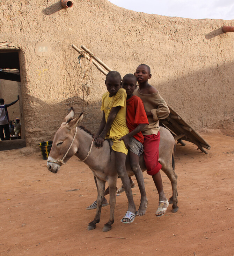
<path fill-rule="evenodd" d="M 110 191 L 110 219 L 107 223 L 105 223 L 102 231 L 106 232 L 111 229 L 111 225 L 114 223 L 114 211 L 115 211 L 115 202 L 116 202 L 116 183 L 117 177 L 110 178 L 108 180 L 109 191 Z"/>

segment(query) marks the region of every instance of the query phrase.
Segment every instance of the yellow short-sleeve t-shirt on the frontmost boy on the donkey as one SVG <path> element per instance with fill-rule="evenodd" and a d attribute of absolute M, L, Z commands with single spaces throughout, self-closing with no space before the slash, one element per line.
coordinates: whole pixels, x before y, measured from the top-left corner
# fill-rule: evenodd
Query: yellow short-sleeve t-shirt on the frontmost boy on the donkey
<path fill-rule="evenodd" d="M 120 88 L 116 95 L 112 97 L 109 97 L 109 92 L 104 93 L 102 96 L 101 110 L 105 113 L 106 122 L 111 108 L 121 106 L 121 109 L 117 113 L 113 123 L 111 124 L 111 128 L 106 135 L 107 139 L 118 140 L 129 133 L 129 129 L 126 125 L 126 98 L 127 94 L 123 88 Z"/>

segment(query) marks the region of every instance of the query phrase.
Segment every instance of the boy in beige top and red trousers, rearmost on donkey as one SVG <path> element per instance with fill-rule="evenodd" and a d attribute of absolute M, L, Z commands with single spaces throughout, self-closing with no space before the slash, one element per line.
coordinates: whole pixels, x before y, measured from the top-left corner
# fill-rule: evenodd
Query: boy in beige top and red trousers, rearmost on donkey
<path fill-rule="evenodd" d="M 135 90 L 134 95 L 137 95 L 143 101 L 149 122 L 148 126 L 142 130 L 144 135 L 143 156 L 147 173 L 152 176 L 159 193 L 159 207 L 155 215 L 162 216 L 166 213 L 169 202 L 163 191 L 160 174 L 162 166 L 158 161 L 160 143 L 159 119 L 168 117 L 170 110 L 167 103 L 159 95 L 158 90 L 148 83 L 148 79 L 152 76 L 149 66 L 145 64 L 139 65 L 134 75 L 139 85 L 139 89 Z"/>

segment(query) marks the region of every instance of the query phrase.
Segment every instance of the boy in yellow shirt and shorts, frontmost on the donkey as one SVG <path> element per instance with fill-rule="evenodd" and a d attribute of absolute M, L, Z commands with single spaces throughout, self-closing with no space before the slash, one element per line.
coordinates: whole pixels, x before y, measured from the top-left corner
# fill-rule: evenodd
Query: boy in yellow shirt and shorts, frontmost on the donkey
<path fill-rule="evenodd" d="M 136 206 L 133 201 L 131 184 L 127 176 L 125 161 L 127 148 L 124 141 L 120 140 L 129 133 L 126 126 L 126 91 L 121 87 L 121 76 L 117 71 L 110 71 L 107 74 L 105 85 L 107 93 L 102 96 L 102 121 L 97 133 L 94 135 L 95 146 L 102 148 L 104 139 L 113 141 L 112 149 L 115 152 L 116 170 L 122 180 L 129 206 L 122 223 L 131 223 L 136 216 Z"/>

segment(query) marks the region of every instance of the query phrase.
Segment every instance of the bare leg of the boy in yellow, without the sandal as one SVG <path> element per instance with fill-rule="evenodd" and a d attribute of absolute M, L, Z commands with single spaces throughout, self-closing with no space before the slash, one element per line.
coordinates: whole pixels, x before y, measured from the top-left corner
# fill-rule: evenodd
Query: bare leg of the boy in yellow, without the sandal
<path fill-rule="evenodd" d="M 124 153 L 115 151 L 115 163 L 116 163 L 117 173 L 118 173 L 119 177 L 121 178 L 121 181 L 123 183 L 125 193 L 127 196 L 127 200 L 129 202 L 127 210 L 131 211 L 131 213 L 135 214 L 136 206 L 133 201 L 131 184 L 130 184 L 129 177 L 127 176 L 125 162 L 126 162 L 126 155 Z M 123 222 L 129 222 L 129 219 L 124 218 Z"/>

